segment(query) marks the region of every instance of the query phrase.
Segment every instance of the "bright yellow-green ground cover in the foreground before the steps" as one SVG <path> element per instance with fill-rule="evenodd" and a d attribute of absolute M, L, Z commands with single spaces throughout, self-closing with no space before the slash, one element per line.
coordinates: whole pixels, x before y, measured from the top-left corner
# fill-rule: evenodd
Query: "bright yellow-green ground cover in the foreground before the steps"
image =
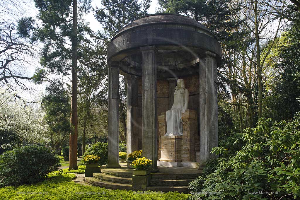
<path fill-rule="evenodd" d="M 46 181 L 0 188 L 2 200 L 186 200 L 188 194 L 177 192 L 154 193 L 126 190 L 107 190 L 102 187 L 85 186 L 72 181 L 75 174 L 53 175 Z"/>

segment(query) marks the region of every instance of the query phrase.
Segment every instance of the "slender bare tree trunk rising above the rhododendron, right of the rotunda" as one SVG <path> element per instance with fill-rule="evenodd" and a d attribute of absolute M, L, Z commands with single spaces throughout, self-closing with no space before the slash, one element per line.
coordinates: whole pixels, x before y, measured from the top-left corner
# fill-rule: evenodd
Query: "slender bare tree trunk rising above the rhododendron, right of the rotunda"
<path fill-rule="evenodd" d="M 262 117 L 262 69 L 260 65 L 257 0 L 254 0 L 254 15 L 255 15 L 256 64 L 257 64 L 257 81 L 258 81 L 258 117 L 261 118 Z"/>

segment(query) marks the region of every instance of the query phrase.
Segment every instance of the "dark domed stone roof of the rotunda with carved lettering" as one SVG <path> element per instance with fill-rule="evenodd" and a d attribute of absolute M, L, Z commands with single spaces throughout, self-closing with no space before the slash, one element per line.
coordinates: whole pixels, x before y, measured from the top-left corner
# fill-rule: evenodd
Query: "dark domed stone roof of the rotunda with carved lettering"
<path fill-rule="evenodd" d="M 160 78 L 197 73 L 199 57 L 205 52 L 213 53 L 221 62 L 221 46 L 208 28 L 187 16 L 171 13 L 147 15 L 123 27 L 107 48 L 107 60 L 122 63 L 122 73 L 141 76 L 140 48 L 145 46 L 157 49 Z"/>

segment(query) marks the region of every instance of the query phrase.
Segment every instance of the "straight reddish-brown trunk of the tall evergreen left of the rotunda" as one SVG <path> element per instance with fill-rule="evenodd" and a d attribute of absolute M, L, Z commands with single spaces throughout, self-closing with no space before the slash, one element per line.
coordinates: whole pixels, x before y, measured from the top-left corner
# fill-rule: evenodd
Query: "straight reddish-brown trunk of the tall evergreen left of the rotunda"
<path fill-rule="evenodd" d="M 78 169 L 77 166 L 77 0 L 73 0 L 73 33 L 72 33 L 72 99 L 71 99 L 71 132 L 69 169 Z"/>

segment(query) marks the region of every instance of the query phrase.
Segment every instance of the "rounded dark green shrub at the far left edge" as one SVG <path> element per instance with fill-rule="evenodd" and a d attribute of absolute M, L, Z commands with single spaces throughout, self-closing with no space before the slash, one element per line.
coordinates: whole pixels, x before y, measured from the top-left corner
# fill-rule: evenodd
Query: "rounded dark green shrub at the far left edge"
<path fill-rule="evenodd" d="M 44 146 L 15 148 L 0 156 L 0 186 L 37 183 L 59 166 L 59 157 Z"/>

